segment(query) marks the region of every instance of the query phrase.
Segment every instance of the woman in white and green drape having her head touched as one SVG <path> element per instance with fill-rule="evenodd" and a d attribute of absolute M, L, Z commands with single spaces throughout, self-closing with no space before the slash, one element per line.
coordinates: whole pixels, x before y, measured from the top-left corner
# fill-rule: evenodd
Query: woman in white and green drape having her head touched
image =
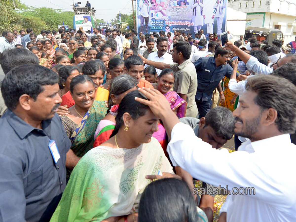
<path fill-rule="evenodd" d="M 173 173 L 159 142 L 152 137 L 159 119 L 134 90 L 120 102 L 109 140 L 91 149 L 72 171 L 51 222 L 133 222 L 146 175 Z M 170 174 L 171 176 L 173 174 Z"/>

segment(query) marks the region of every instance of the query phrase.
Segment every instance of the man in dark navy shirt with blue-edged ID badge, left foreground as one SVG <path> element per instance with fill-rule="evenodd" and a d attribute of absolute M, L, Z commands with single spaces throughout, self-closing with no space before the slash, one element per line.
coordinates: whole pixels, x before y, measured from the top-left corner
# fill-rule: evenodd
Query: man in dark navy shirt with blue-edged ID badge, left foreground
<path fill-rule="evenodd" d="M 35 64 L 13 68 L 2 82 L 0 221 L 49 221 L 65 189 L 71 142 L 55 113 L 58 82 Z"/>

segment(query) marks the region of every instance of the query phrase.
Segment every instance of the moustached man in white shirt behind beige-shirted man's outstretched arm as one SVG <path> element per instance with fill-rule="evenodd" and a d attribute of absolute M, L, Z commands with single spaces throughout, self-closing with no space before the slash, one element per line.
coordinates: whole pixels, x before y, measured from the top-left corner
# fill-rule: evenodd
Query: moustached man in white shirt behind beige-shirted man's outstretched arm
<path fill-rule="evenodd" d="M 152 52 L 148 56 L 148 60 L 154 61 L 154 62 L 163 62 L 167 64 L 173 63 L 172 55 L 168 53 L 168 39 L 165 37 L 159 37 L 157 38 L 156 43 L 157 52 Z M 145 65 L 145 68 L 148 65 Z M 160 69 L 156 69 L 157 75 L 161 73 Z"/>

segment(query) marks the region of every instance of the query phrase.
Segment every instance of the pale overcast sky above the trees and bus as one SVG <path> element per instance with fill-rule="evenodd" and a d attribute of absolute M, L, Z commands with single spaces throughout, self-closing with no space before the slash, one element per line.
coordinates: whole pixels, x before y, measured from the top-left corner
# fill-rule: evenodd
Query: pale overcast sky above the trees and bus
<path fill-rule="evenodd" d="M 75 0 L 74 3 L 77 1 L 81 2 L 80 6 L 82 7 L 84 7 L 86 4 L 86 1 L 84 0 Z M 72 0 L 21 0 L 21 2 L 25 5 L 33 7 L 47 7 L 62 9 L 65 11 L 73 11 Z M 89 3 L 91 3 L 91 7 L 94 7 L 94 9 L 96 9 L 96 18 L 104 19 L 106 22 L 111 22 L 111 19 L 114 19 L 119 11 L 123 14 L 129 14 L 132 11 L 131 0 L 89 0 Z"/>

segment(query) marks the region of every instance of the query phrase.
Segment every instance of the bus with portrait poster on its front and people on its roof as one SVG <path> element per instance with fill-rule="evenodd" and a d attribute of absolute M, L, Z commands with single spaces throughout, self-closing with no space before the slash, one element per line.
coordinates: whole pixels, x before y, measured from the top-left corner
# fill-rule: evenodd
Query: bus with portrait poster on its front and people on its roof
<path fill-rule="evenodd" d="M 79 30 L 79 28 L 82 27 L 84 31 L 90 30 L 92 32 L 93 28 L 98 27 L 96 17 L 91 7 L 73 7 L 73 10 L 74 29 Z"/>

